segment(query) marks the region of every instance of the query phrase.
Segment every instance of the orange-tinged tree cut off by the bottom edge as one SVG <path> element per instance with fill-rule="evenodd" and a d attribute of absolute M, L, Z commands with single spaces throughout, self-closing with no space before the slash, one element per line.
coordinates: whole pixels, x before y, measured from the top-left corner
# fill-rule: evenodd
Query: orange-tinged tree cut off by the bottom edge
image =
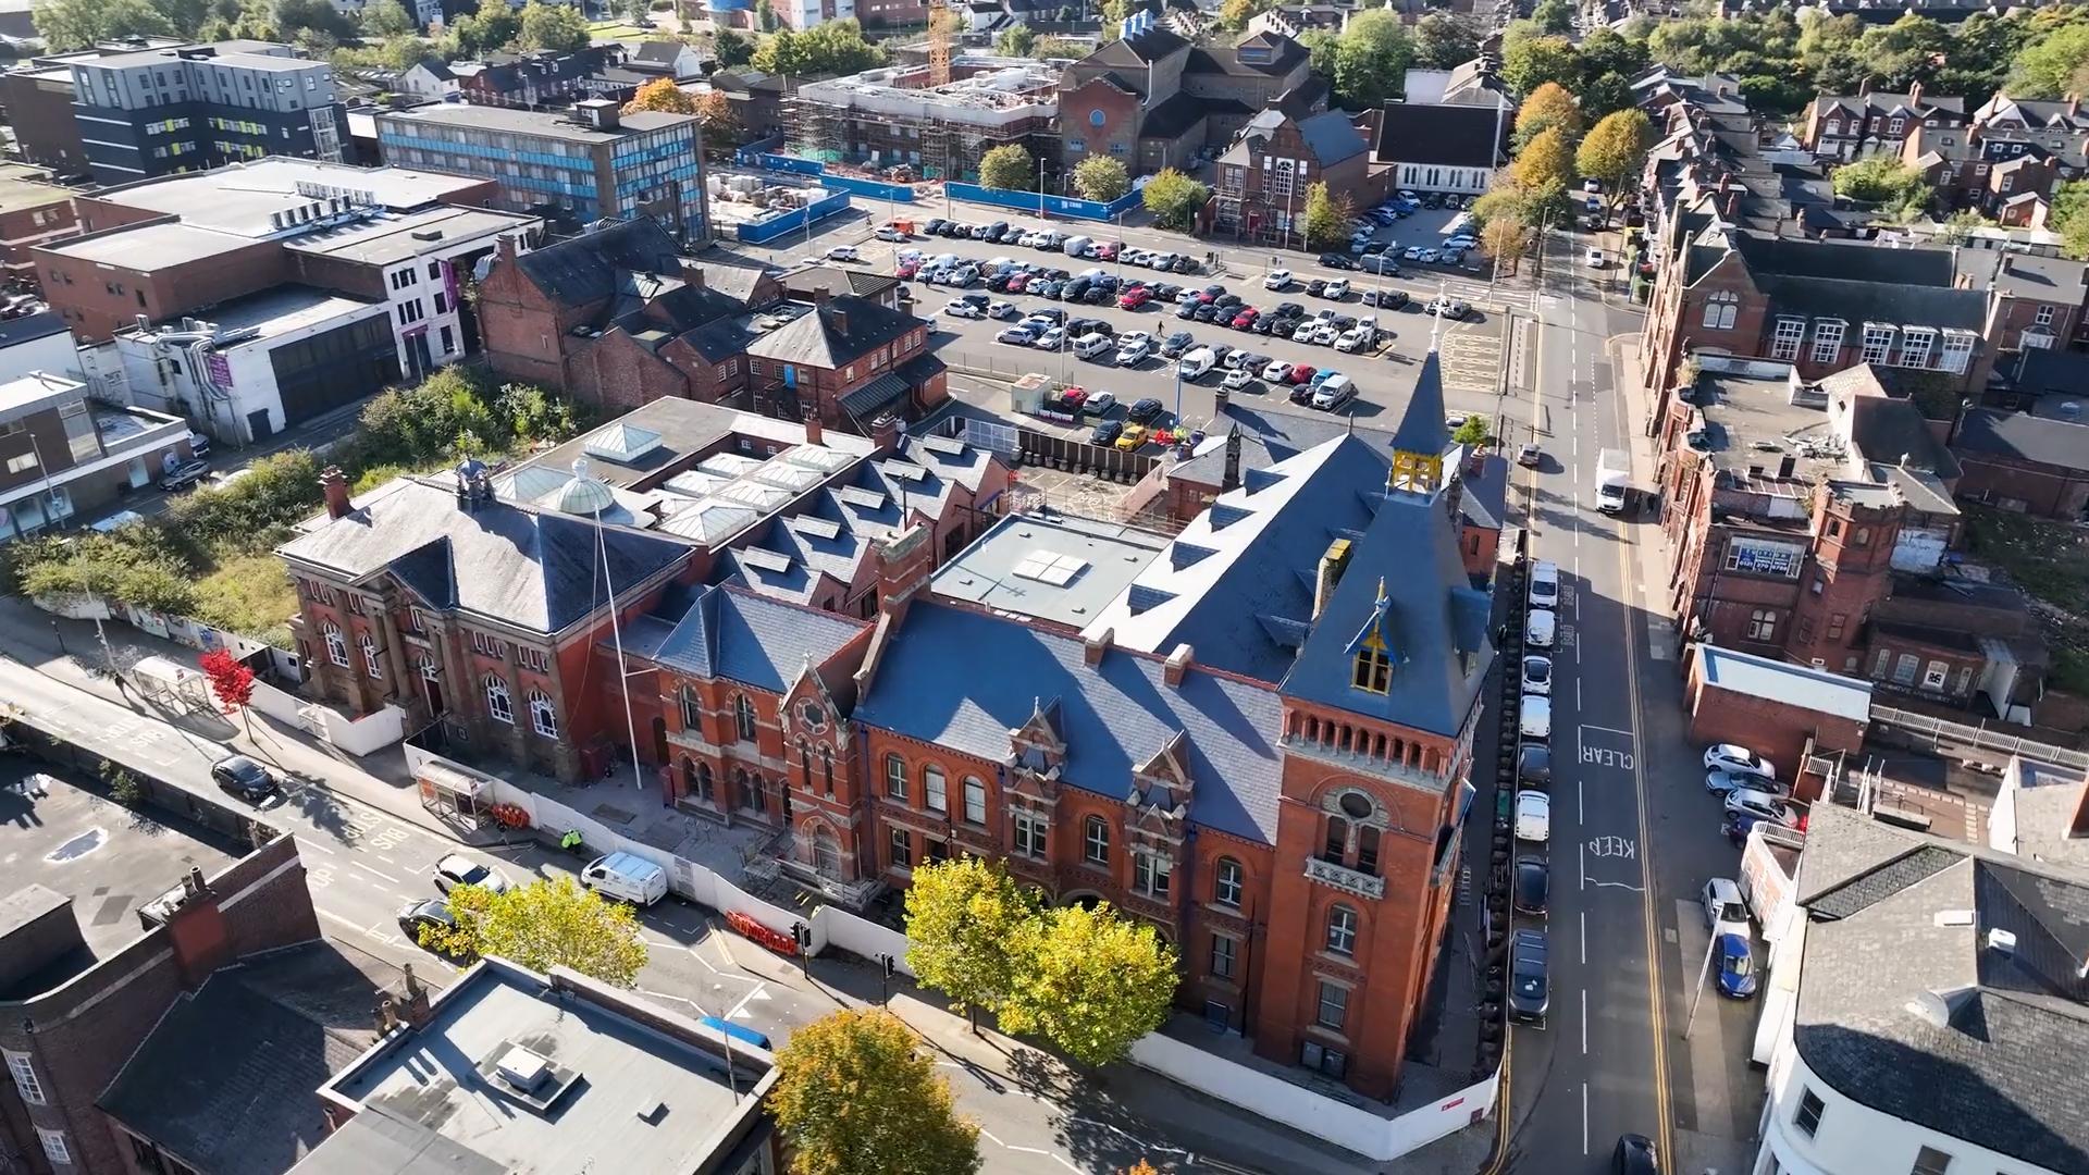
<path fill-rule="evenodd" d="M 844 1008 L 775 1054 L 769 1112 L 790 1139 L 792 1175 L 971 1175 L 980 1127 L 898 1016 Z"/>

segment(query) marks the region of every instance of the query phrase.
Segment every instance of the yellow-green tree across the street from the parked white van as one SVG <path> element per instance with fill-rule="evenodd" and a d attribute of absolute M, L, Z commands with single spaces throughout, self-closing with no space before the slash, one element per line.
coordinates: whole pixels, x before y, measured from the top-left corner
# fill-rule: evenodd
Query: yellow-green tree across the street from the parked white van
<path fill-rule="evenodd" d="M 616 987 L 637 983 L 646 966 L 646 939 L 631 907 L 604 901 L 568 876 L 508 893 L 464 884 L 449 891 L 449 912 L 455 928 L 422 926 L 422 947 L 453 958 L 501 955 L 537 972 L 564 966 Z"/>

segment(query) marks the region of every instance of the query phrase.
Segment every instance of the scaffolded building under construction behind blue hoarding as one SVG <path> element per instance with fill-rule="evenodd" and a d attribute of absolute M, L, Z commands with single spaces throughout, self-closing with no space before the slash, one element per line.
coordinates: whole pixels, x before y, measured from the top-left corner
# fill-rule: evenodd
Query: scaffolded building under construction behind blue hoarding
<path fill-rule="evenodd" d="M 978 182 L 980 159 L 1011 142 L 1057 163 L 1059 69 L 967 54 L 808 82 L 792 98 L 790 123 L 794 155 L 829 169 Z"/>

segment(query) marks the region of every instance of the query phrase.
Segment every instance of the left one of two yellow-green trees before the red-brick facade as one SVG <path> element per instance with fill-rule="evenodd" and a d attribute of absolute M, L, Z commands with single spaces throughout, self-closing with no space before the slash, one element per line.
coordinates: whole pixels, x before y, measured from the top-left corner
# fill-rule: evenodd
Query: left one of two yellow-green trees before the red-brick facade
<path fill-rule="evenodd" d="M 928 863 L 907 884 L 907 966 L 950 997 L 950 1010 L 994 1012 L 1015 989 L 1019 953 L 1038 920 L 1038 895 L 1001 861 L 959 857 Z"/>

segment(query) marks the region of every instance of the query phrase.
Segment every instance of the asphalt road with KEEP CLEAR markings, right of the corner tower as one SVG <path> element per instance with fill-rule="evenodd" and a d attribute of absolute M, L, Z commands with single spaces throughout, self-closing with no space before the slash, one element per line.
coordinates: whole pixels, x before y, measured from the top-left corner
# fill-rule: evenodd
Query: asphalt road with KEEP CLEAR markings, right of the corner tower
<path fill-rule="evenodd" d="M 1636 435 L 1621 387 L 1634 376 L 1615 370 L 1611 343 L 1636 332 L 1640 314 L 1611 289 L 1615 270 L 1596 278 L 1581 263 L 1586 245 L 1548 240 L 1525 341 L 1538 395 L 1521 408 L 1550 429 L 1538 435 L 1542 468 L 1525 473 L 1527 525 L 1535 556 L 1560 567 L 1563 594 L 1552 899 L 1548 918 L 1519 918 L 1548 930 L 1552 1004 L 1544 1029 L 1515 1029 L 1504 1169 L 1609 1171 L 1617 1137 L 1644 1133 L 1669 1171 L 1698 1171 L 1682 1162 L 1703 1154 L 1698 1135 L 1738 1148 L 1761 1089 L 1744 1060 L 1753 1001 L 1707 993 L 1682 1035 L 1707 943 L 1696 893 L 1709 876 L 1736 876 L 1738 853 L 1684 736 L 1673 638 L 1646 608 L 1661 592 L 1659 527 L 1594 508 L 1598 454 Z M 1682 1156 L 1680 1131 L 1692 1144 Z"/>

